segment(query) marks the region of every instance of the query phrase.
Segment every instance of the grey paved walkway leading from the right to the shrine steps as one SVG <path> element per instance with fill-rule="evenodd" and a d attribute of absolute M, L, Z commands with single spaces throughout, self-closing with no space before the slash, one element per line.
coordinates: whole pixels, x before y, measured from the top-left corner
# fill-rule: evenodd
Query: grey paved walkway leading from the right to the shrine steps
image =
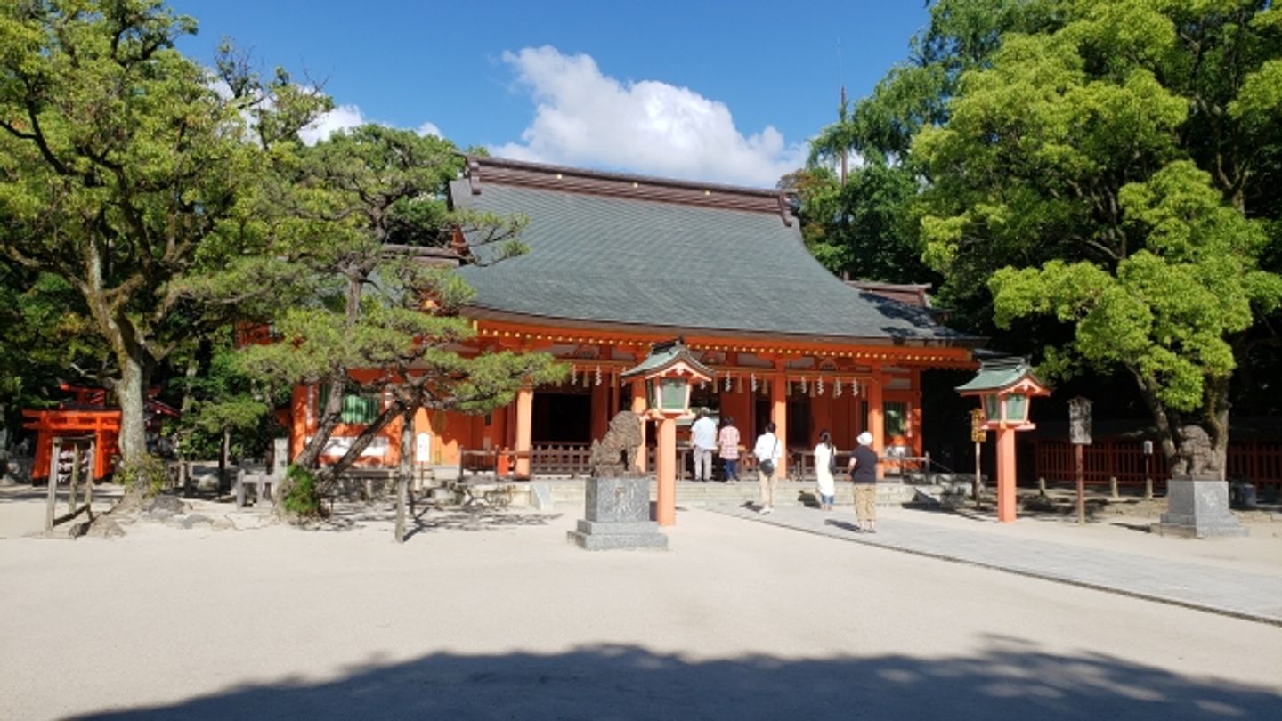
<path fill-rule="evenodd" d="M 869 547 L 967 563 L 1022 576 L 1072 584 L 1133 598 L 1170 603 L 1249 621 L 1282 626 L 1282 575 L 1251 572 L 1208 562 L 1155 559 L 1114 549 L 1029 539 L 1005 532 L 992 521 L 969 527 L 912 520 L 912 512 L 879 512 L 876 534 L 858 532 L 854 513 L 823 513 L 803 505 L 778 505 L 760 516 L 747 505 L 706 511 Z M 924 512 L 918 512 L 919 517 Z M 1023 521 L 1031 523 L 1036 521 Z M 1017 521 L 1019 523 L 1019 521 Z M 1063 529 L 1070 531 L 1072 526 Z M 1215 544 L 1217 540 L 1173 543 Z"/>

